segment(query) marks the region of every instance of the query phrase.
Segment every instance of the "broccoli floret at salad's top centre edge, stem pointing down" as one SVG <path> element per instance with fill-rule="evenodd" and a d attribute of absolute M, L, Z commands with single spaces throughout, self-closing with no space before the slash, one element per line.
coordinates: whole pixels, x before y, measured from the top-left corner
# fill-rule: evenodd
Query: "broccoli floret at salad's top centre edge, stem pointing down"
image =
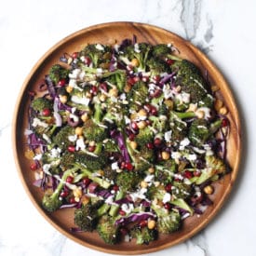
<path fill-rule="evenodd" d="M 146 63 L 150 57 L 151 46 L 147 43 L 139 43 L 135 45 L 129 45 L 123 49 L 123 56 L 128 58 L 128 61 L 137 59 L 139 61 L 139 70 L 146 69 Z"/>

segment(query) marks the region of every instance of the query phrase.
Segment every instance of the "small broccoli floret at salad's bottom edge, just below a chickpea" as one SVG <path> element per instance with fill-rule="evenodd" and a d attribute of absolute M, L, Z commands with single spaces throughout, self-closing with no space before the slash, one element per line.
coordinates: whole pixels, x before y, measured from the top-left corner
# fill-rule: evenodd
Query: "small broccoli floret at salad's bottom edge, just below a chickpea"
<path fill-rule="evenodd" d="M 157 238 L 157 231 L 148 227 L 135 226 L 130 232 L 130 235 L 136 239 L 137 245 L 148 245 Z"/>

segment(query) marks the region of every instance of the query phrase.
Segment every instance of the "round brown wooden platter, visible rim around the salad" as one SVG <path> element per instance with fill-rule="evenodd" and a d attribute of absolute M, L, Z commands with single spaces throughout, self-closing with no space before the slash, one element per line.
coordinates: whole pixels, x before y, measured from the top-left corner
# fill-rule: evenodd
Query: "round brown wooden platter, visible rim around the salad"
<path fill-rule="evenodd" d="M 74 209 L 61 209 L 55 213 L 48 214 L 41 208 L 42 192 L 33 185 L 34 172 L 30 170 L 30 160 L 24 153 L 27 150 L 24 130 L 27 128 L 27 109 L 29 103 L 28 91 L 36 90 L 39 81 L 47 74 L 51 65 L 58 63 L 63 53 L 79 51 L 88 43 L 113 44 L 120 43 L 123 39 L 137 37 L 138 42 L 148 42 L 151 44 L 171 43 L 180 51 L 179 56 L 183 59 L 193 61 L 203 73 L 208 72 L 212 85 L 220 88 L 218 97 L 222 98 L 229 113 L 230 135 L 227 141 L 227 160 L 232 168 L 230 174 L 225 175 L 219 182 L 215 182 L 214 194 L 211 195 L 213 205 L 210 206 L 203 215 L 187 218 L 179 232 L 169 236 L 160 236 L 150 245 L 136 245 L 134 241 L 122 242 L 118 245 L 106 245 L 96 233 L 71 233 L 70 228 L 74 226 Z M 222 208 L 227 199 L 233 184 L 236 180 L 238 165 L 241 153 L 240 123 L 236 109 L 236 102 L 228 84 L 224 80 L 220 71 L 209 59 L 188 41 L 176 34 L 172 34 L 164 29 L 142 23 L 135 22 L 110 22 L 88 27 L 64 38 L 35 64 L 31 73 L 27 76 L 17 101 L 13 119 L 13 149 L 14 157 L 20 173 L 20 180 L 34 203 L 38 211 L 64 236 L 91 249 L 97 249 L 112 254 L 142 254 L 159 249 L 165 249 L 194 236 L 204 228 Z"/>

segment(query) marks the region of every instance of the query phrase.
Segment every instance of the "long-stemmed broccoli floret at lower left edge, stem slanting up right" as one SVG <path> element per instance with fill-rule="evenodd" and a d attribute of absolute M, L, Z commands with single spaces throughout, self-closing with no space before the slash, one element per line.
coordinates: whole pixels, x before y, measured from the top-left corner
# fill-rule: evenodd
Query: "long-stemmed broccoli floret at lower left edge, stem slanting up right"
<path fill-rule="evenodd" d="M 48 212 L 53 212 L 61 207 L 62 205 L 62 201 L 60 200 L 61 190 L 64 187 L 67 177 L 70 176 L 73 172 L 75 172 L 76 169 L 77 168 L 70 168 L 64 171 L 61 177 L 61 182 L 59 182 L 59 185 L 53 191 L 53 193 L 51 194 L 46 193 L 44 195 L 42 199 L 42 207 L 46 209 Z"/>

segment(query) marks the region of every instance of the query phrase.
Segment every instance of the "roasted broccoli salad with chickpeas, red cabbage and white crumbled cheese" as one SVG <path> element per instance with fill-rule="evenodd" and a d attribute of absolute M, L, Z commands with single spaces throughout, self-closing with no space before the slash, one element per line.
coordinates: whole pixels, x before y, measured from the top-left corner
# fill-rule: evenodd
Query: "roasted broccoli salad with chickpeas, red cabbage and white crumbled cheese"
<path fill-rule="evenodd" d="M 228 112 L 216 86 L 172 45 L 125 39 L 64 53 L 29 91 L 34 185 L 71 232 L 148 244 L 212 204 Z"/>

